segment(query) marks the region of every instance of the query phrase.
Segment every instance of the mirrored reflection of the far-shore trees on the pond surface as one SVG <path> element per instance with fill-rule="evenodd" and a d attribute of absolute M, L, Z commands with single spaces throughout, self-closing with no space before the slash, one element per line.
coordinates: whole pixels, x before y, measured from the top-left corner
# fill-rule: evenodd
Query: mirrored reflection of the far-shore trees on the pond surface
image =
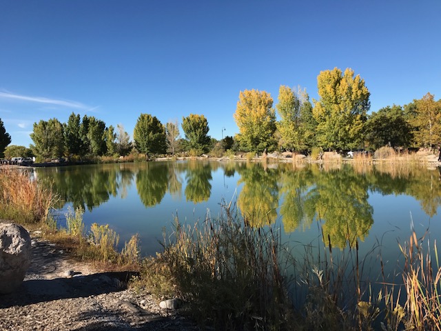
<path fill-rule="evenodd" d="M 144 208 L 155 209 L 170 194 L 173 205 L 169 210 L 176 210 L 183 208 L 185 201 L 198 205 L 217 199 L 217 205 L 225 197 L 219 191 L 227 192 L 229 186 L 237 188 L 237 205 L 249 225 L 265 226 L 280 218 L 289 233 L 307 231 L 314 221 L 320 221 L 325 241 L 329 238 L 340 248 L 365 240 L 371 231 L 373 206 L 369 194 L 411 196 L 429 217 L 434 217 L 441 206 L 440 169 L 410 165 L 298 167 L 292 163 L 192 160 L 83 165 L 37 169 L 36 173 L 41 183 L 52 185 L 61 197 L 59 208 L 72 203 L 90 212 L 111 197 L 127 199 L 132 187 L 136 187 Z"/>

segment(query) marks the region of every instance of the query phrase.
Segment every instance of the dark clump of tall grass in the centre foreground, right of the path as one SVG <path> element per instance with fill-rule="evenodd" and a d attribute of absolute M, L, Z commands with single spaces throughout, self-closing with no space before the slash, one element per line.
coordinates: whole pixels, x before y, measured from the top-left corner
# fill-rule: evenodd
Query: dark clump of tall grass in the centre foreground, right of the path
<path fill-rule="evenodd" d="M 163 252 L 147 259 L 141 282 L 150 292 L 189 302 L 199 323 L 218 330 L 286 329 L 294 319 L 280 230 L 243 225 L 231 205 L 195 225 L 176 217 Z M 139 284 L 138 284 L 139 285 Z"/>

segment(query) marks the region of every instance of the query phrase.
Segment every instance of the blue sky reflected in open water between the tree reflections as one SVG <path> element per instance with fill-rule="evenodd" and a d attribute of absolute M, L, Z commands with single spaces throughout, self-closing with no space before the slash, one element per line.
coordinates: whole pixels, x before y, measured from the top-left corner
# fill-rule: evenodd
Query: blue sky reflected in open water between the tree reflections
<path fill-rule="evenodd" d="M 87 226 L 91 223 L 109 223 L 111 227 L 120 234 L 120 245 L 123 245 L 125 241 L 130 239 L 130 236 L 134 233 L 139 233 L 141 237 L 141 245 L 143 254 L 154 254 L 156 250 L 161 250 L 161 245 L 158 241 L 163 239 L 163 229 L 169 234 L 173 228 L 173 219 L 178 215 L 181 222 L 194 223 L 194 221 L 203 221 L 207 210 L 211 217 L 218 217 L 220 213 L 220 203 L 225 201 L 229 203 L 232 201 L 234 205 L 240 195 L 246 183 L 243 180 L 240 184 L 240 174 L 236 169 L 234 176 L 228 177 L 224 174 L 223 167 L 227 163 L 217 163 L 217 167 L 214 166 L 211 172 L 211 179 L 209 184 L 211 190 L 209 190 L 209 197 L 204 197 L 202 202 L 194 203 L 187 201 L 185 197 L 185 188 L 189 176 L 185 170 L 185 166 L 181 165 L 175 172 L 176 177 L 181 181 L 181 189 L 178 192 L 170 193 L 165 192 L 161 203 L 145 207 L 141 201 L 136 185 L 136 173 L 130 179 L 130 182 L 125 185 L 125 188 L 119 188 L 116 197 L 109 194 L 109 198 L 103 201 L 97 207 L 94 207 L 92 212 L 86 208 L 84 214 L 84 221 Z M 82 171 L 88 171 L 88 169 L 97 169 L 101 165 L 95 165 L 90 168 L 82 168 Z M 138 165 L 130 165 L 131 170 L 136 172 Z M 150 165 L 149 165 L 150 166 Z M 153 166 L 166 166 L 156 163 Z M 112 165 L 106 165 L 108 169 L 112 169 Z M 118 165 L 114 165 L 116 169 Z M 197 168 L 197 167 L 196 167 Z M 45 172 L 54 170 L 38 170 L 38 172 Z M 69 176 L 69 169 L 63 169 L 63 176 Z M 260 171 L 263 171 L 260 169 Z M 271 170 L 273 171 L 273 170 Z M 59 172 L 59 171 L 58 171 Z M 436 170 L 435 170 L 436 172 Z M 241 172 L 243 174 L 243 172 Z M 272 172 L 271 172 L 272 173 Z M 277 173 L 277 172 L 276 172 Z M 316 172 L 321 173 L 322 172 Z M 285 172 L 290 175 L 290 172 Z M 438 172 L 436 172 L 438 175 Z M 352 174 L 354 176 L 354 174 Z M 118 176 L 116 176 L 118 181 Z M 209 178 L 209 176 L 208 176 Z M 286 177 L 285 177 L 286 179 Z M 74 178 L 72 179 L 74 180 Z M 384 181 L 384 177 L 382 177 Z M 331 183 L 334 183 L 331 181 Z M 336 181 L 338 183 L 338 181 Z M 262 185 L 265 185 L 263 183 Z M 283 186 L 284 183 L 278 179 L 278 185 Z M 308 184 L 310 185 L 310 184 Z M 334 185 L 334 184 L 332 184 Z M 424 187 L 423 187 L 424 189 Z M 310 190 L 305 188 L 303 194 Z M 197 195 L 198 192 L 196 192 Z M 373 224 L 369 228 L 368 235 L 365 236 L 365 241 L 360 242 L 360 257 L 367 256 L 366 263 L 372 265 L 379 265 L 377 254 L 381 250 L 382 259 L 384 263 L 389 265 L 396 265 L 396 260 L 399 257 L 398 240 L 403 242 L 409 240 L 411 229 L 411 217 L 413 219 L 413 225 L 419 235 L 429 228 L 431 234 L 431 243 L 433 239 L 440 237 L 440 208 L 438 207 L 438 213 L 429 219 L 429 216 L 422 211 L 420 201 L 417 201 L 413 197 L 409 197 L 404 194 L 389 194 L 382 195 L 378 192 L 368 192 L 369 198 L 367 199 L 367 205 L 371 205 L 373 208 Z M 121 199 L 121 195 L 123 199 Z M 279 191 L 278 200 L 278 216 L 277 222 L 281 223 L 280 217 L 280 205 L 283 203 L 285 193 Z M 70 203 L 71 204 L 71 203 Z M 326 222 L 326 220 L 323 220 Z M 430 226 L 429 226 L 430 225 Z M 280 225 L 283 228 L 283 225 Z M 310 225 L 300 222 L 300 226 L 293 232 L 284 233 L 282 231 L 282 242 L 288 243 L 294 252 L 303 252 L 304 245 L 311 243 L 316 247 L 323 250 L 323 244 L 321 239 L 321 232 L 316 222 Z M 378 246 L 381 245 L 381 248 Z M 376 250 L 372 251 L 372 248 L 376 247 Z M 372 251 L 372 252 L 371 252 Z M 368 261 L 369 260 L 369 261 Z M 375 270 L 377 267 L 375 267 Z M 373 272 L 373 277 L 375 277 Z"/>

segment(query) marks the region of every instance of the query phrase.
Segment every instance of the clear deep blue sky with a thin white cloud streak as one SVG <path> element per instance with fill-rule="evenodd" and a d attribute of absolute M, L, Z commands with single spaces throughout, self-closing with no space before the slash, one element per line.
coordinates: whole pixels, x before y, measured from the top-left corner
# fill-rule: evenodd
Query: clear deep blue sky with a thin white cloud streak
<path fill-rule="evenodd" d="M 440 0 L 0 0 L 0 119 L 28 146 L 39 120 L 72 112 L 132 137 L 141 113 L 204 114 L 234 135 L 238 94 L 317 95 L 321 70 L 352 68 L 371 111 L 441 99 Z M 223 131 L 225 128 L 225 131 Z M 182 134 L 182 130 L 181 130 Z"/>

